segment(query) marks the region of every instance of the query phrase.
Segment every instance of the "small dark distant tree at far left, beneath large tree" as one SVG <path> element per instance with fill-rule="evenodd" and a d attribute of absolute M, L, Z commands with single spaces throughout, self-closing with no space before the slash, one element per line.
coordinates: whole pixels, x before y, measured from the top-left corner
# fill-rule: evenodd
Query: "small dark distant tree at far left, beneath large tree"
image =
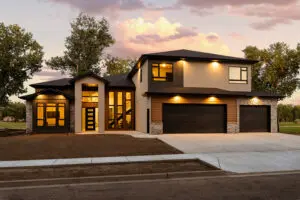
<path fill-rule="evenodd" d="M 12 116 L 16 121 L 26 118 L 26 106 L 20 102 L 9 102 L 3 110 L 3 117 Z"/>

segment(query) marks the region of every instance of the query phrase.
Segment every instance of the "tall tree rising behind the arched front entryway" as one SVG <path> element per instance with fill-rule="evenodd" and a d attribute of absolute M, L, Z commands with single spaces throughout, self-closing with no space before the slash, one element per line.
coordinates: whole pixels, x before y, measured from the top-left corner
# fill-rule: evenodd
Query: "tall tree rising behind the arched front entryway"
<path fill-rule="evenodd" d="M 71 35 L 65 41 L 64 55 L 53 57 L 46 64 L 72 76 L 88 71 L 99 74 L 103 50 L 114 43 L 107 20 L 96 20 L 81 13 L 71 22 L 71 29 Z"/>

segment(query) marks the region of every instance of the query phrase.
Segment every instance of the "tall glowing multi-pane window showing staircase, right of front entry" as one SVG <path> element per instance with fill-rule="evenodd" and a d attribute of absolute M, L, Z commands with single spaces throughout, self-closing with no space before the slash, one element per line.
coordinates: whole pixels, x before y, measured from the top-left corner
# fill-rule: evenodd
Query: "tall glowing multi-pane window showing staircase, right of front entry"
<path fill-rule="evenodd" d="M 133 92 L 111 91 L 108 99 L 108 128 L 133 129 Z"/>

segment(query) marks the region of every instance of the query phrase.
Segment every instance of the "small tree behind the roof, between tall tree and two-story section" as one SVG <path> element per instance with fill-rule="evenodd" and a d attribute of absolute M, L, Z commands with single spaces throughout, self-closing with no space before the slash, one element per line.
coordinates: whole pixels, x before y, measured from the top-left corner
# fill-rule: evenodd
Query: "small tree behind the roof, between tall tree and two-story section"
<path fill-rule="evenodd" d="M 108 55 L 105 58 L 106 72 L 104 76 L 128 73 L 136 63 L 136 59 L 123 59 Z"/>

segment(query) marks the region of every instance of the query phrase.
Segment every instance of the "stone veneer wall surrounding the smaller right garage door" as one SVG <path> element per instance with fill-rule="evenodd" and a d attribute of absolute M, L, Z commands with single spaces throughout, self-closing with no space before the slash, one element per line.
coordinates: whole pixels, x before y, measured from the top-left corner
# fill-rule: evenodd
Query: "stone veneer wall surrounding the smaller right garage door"
<path fill-rule="evenodd" d="M 253 99 L 237 99 L 237 122 L 238 127 L 240 124 L 240 105 L 269 105 L 271 106 L 271 132 L 277 133 L 278 132 L 278 126 L 277 126 L 277 99 L 263 99 L 259 98 L 256 100 Z M 237 130 L 239 132 L 239 129 Z"/>

